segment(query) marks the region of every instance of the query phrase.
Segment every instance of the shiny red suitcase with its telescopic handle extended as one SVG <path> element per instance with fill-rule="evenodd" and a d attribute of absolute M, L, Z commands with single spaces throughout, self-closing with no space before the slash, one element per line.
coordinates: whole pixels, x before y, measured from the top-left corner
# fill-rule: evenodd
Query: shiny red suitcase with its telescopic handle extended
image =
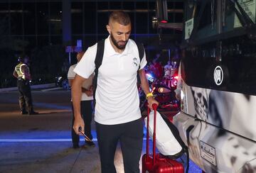
<path fill-rule="evenodd" d="M 149 155 L 149 128 L 146 128 L 146 154 L 142 156 L 142 173 L 183 173 L 183 164 L 161 155 L 156 154 L 156 105 L 154 108 L 154 133 L 153 133 L 153 155 Z M 149 127 L 149 111 L 147 115 L 147 125 Z"/>

